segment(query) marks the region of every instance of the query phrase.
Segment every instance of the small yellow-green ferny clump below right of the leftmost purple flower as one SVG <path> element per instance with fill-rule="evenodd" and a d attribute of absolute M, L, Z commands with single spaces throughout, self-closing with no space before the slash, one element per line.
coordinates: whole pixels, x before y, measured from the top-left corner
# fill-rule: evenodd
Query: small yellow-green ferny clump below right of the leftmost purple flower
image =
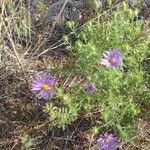
<path fill-rule="evenodd" d="M 44 106 L 44 112 L 48 114 L 48 121 L 50 128 L 54 126 L 62 127 L 65 126 L 77 118 L 78 115 L 78 104 L 73 101 L 73 98 L 69 94 L 65 94 L 60 88 L 56 89 L 55 102 L 48 102 Z"/>

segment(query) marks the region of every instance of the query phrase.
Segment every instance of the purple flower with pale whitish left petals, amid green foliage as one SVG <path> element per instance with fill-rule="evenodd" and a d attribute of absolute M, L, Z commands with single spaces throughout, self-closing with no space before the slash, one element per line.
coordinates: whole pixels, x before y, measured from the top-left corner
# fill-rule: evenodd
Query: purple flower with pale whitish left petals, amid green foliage
<path fill-rule="evenodd" d="M 117 69 L 121 64 L 121 53 L 117 49 L 106 51 L 103 56 L 104 58 L 101 59 L 100 63 L 107 68 Z"/>

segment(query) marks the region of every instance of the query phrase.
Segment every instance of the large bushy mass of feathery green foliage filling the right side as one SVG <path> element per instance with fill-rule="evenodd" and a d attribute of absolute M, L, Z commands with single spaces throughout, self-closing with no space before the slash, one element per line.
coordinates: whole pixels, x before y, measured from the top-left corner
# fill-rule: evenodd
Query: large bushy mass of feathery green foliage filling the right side
<path fill-rule="evenodd" d="M 54 97 L 59 98 L 66 109 L 46 104 L 44 110 L 51 122 L 65 127 L 79 112 L 92 117 L 92 111 L 99 110 L 95 126 L 113 130 L 124 140 L 132 135 L 141 103 L 148 104 L 150 99 L 148 75 L 143 65 L 150 40 L 145 23 L 134 20 L 136 14 L 123 3 L 116 10 L 89 21 L 75 34 L 78 40 L 71 50 L 76 59 L 72 72 L 83 77 L 84 83 L 71 85 L 69 94 L 56 90 Z M 69 41 L 68 37 L 65 36 L 65 40 Z M 103 54 L 113 49 L 122 54 L 122 63 L 117 69 L 100 64 Z M 85 90 L 87 84 L 94 86 L 94 92 Z"/>

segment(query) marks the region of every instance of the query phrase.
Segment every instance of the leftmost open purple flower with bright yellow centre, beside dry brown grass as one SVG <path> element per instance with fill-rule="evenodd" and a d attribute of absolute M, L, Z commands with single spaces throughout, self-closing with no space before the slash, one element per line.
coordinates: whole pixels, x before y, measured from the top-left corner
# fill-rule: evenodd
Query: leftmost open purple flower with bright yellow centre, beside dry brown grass
<path fill-rule="evenodd" d="M 49 95 L 54 93 L 54 84 L 54 78 L 50 74 L 44 74 L 35 77 L 31 84 L 31 90 L 38 91 L 40 97 L 48 99 Z"/>

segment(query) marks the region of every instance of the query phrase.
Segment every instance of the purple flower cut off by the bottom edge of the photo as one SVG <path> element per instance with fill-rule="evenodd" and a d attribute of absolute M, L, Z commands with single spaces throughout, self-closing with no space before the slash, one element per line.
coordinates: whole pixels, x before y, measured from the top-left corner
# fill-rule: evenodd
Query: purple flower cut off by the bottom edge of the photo
<path fill-rule="evenodd" d="M 97 147 L 99 150 L 115 150 L 118 139 L 113 134 L 100 134 L 97 140 Z"/>

